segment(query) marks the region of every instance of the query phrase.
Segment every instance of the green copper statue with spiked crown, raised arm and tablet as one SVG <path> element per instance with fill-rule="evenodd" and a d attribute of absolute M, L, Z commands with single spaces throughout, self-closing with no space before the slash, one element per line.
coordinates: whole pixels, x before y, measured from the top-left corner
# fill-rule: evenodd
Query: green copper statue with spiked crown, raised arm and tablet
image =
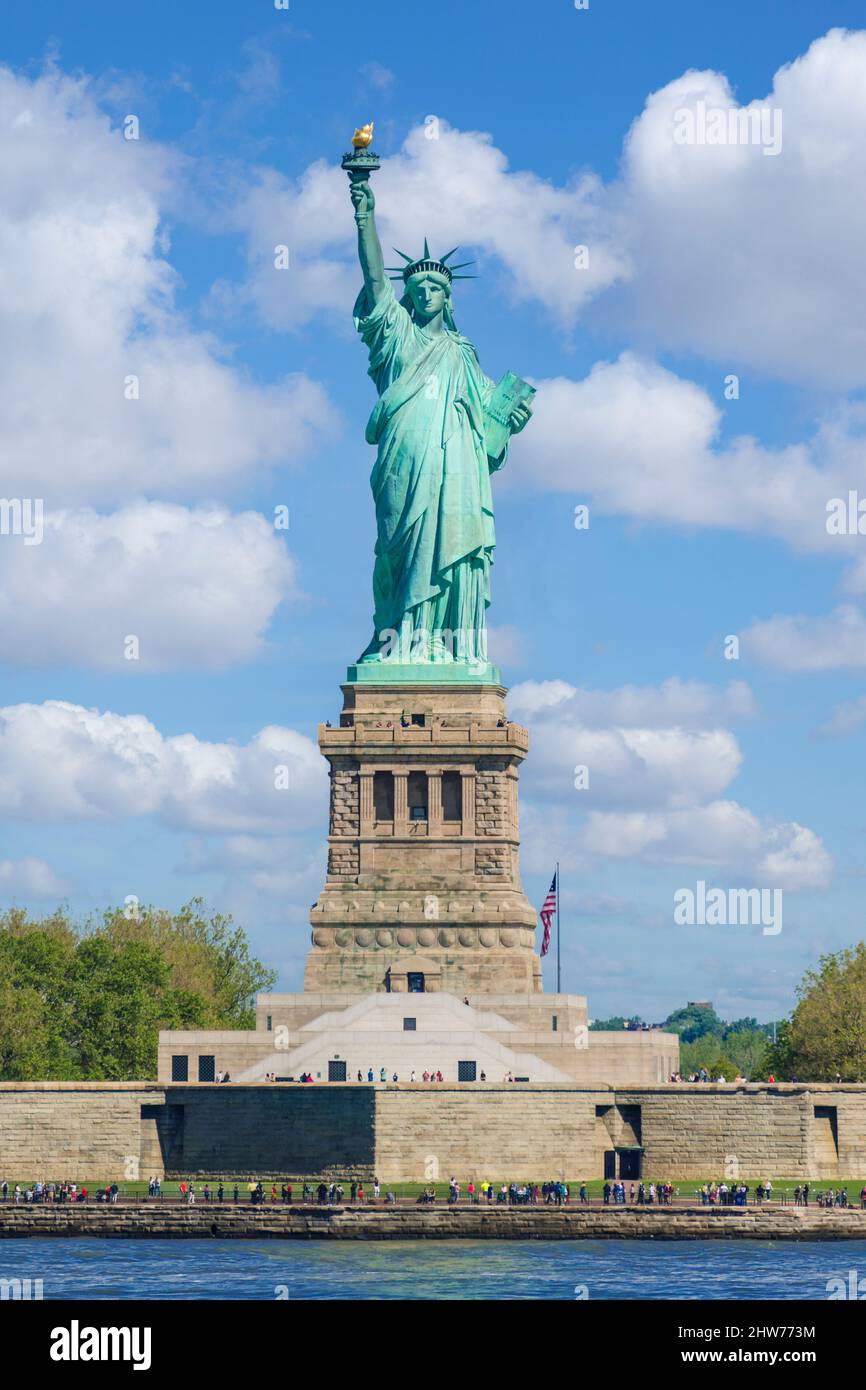
<path fill-rule="evenodd" d="M 398 252 L 406 261 L 391 277 L 405 286 L 398 300 L 368 175 L 350 172 L 350 178 L 364 275 L 354 322 L 378 392 L 366 434 L 377 448 L 370 478 L 378 531 L 374 635 L 357 670 L 381 663 L 382 678 L 391 662 L 403 669 L 459 663 L 491 670 L 485 628 L 495 549 L 491 473 L 503 466 L 509 436 L 531 416 L 532 388 L 510 374 L 517 389 L 503 391 L 506 378 L 498 388 L 481 370 L 473 343 L 457 332 L 452 282 L 467 277 L 456 274 L 460 265 L 448 264 L 456 247 L 435 259 L 425 239 L 416 260 Z M 460 678 L 456 669 L 455 677 Z"/>

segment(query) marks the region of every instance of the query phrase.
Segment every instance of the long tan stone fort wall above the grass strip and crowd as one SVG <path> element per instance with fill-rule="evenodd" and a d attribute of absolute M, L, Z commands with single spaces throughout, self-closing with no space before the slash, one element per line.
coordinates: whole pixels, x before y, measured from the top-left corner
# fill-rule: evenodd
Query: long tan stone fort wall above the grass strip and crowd
<path fill-rule="evenodd" d="M 0 1083 L 0 1179 L 866 1182 L 866 1086 Z"/>

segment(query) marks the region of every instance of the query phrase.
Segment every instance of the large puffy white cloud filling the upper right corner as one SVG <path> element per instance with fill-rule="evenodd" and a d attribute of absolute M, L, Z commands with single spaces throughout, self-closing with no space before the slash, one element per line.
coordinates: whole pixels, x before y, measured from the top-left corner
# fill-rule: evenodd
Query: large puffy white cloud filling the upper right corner
<path fill-rule="evenodd" d="M 767 74 L 769 76 L 769 74 Z M 737 110 L 726 76 L 685 72 L 648 99 L 609 190 L 632 275 L 616 309 L 653 345 L 770 375 L 866 379 L 866 33 L 833 29 L 749 103 L 781 113 L 781 152 L 681 145 L 676 113 Z"/>

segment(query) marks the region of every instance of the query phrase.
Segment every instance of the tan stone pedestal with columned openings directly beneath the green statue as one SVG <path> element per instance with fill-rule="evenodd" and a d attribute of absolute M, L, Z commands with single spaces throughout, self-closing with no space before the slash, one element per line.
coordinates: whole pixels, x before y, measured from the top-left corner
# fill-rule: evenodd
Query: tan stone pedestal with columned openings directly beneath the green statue
<path fill-rule="evenodd" d="M 353 673 L 354 674 L 354 673 Z M 349 681 L 331 766 L 328 877 L 304 991 L 541 991 L 520 885 L 525 728 L 482 681 Z"/>

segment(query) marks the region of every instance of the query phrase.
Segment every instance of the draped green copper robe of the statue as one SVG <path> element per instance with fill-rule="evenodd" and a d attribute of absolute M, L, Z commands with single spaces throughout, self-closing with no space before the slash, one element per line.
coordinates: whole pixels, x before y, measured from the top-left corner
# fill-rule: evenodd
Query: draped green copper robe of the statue
<path fill-rule="evenodd" d="M 367 424 L 367 442 L 377 446 L 374 638 L 361 660 L 487 660 L 491 471 L 507 453 L 488 459 L 484 445 L 495 384 L 468 338 L 425 332 L 391 285 L 375 304 L 361 291 L 354 322 L 378 391 Z"/>

